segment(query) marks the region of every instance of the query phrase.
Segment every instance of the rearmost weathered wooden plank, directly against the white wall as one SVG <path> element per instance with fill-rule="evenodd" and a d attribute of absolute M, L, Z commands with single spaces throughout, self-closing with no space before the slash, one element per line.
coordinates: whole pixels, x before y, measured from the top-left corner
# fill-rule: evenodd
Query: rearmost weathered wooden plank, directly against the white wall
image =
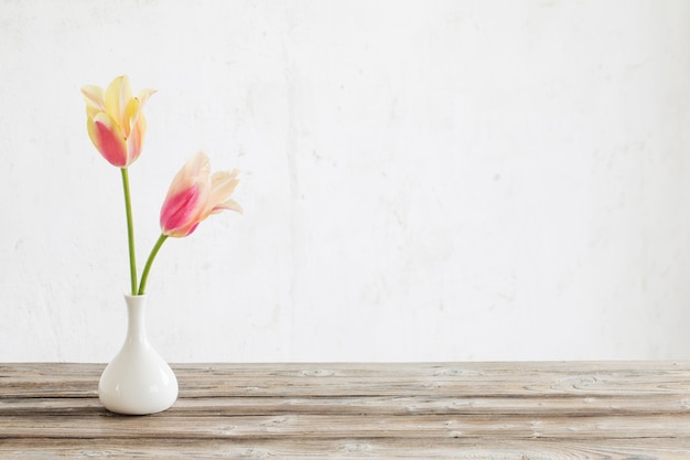
<path fill-rule="evenodd" d="M 7 366 L 7 365 L 6 365 Z M 90 397 L 96 395 L 103 366 L 46 365 L 41 373 L 23 365 L 22 373 L 0 365 L 4 397 Z M 283 367 L 284 366 L 284 367 Z M 581 368 L 580 368 L 581 367 Z M 51 368 L 55 374 L 51 374 Z M 58 371 L 60 370 L 60 371 Z M 690 389 L 690 363 L 570 364 L 486 363 L 441 364 L 260 364 L 176 365 L 181 397 L 214 396 L 529 396 L 678 394 Z M 55 385 L 60 379 L 60 386 Z"/>

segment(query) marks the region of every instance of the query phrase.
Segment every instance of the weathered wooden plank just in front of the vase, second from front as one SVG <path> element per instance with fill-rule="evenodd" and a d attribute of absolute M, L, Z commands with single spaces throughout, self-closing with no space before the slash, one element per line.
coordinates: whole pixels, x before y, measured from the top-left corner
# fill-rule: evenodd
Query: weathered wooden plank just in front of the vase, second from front
<path fill-rule="evenodd" d="M 690 438 L 688 416 L 377 416 L 271 415 L 0 417 L 0 438 Z"/>

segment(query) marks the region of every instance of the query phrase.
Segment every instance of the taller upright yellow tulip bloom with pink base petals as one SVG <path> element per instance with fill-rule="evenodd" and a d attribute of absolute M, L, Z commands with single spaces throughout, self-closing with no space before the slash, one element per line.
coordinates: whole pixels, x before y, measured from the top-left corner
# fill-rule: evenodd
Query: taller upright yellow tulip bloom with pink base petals
<path fill-rule="evenodd" d="M 82 88 L 88 136 L 114 167 L 127 168 L 139 158 L 147 130 L 142 109 L 153 93 L 144 89 L 132 97 L 126 75 L 115 78 L 105 92 L 94 85 Z"/>

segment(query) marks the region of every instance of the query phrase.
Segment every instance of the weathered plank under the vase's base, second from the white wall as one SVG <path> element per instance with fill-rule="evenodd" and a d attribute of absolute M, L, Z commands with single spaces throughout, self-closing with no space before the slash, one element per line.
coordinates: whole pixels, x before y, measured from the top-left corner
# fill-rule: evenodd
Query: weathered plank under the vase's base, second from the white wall
<path fill-rule="evenodd" d="M 571 397 L 195 397 L 180 398 L 169 414 L 185 417 L 240 415 L 686 415 L 690 395 Z M 0 416 L 106 414 L 97 398 L 0 398 Z"/>

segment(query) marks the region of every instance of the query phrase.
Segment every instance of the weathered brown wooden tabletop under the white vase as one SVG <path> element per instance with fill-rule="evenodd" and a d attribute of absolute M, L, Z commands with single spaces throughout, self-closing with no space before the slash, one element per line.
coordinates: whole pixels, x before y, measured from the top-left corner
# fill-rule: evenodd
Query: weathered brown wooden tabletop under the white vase
<path fill-rule="evenodd" d="M 99 364 L 0 364 L 0 458 L 690 459 L 690 363 L 180 364 L 118 416 Z"/>

